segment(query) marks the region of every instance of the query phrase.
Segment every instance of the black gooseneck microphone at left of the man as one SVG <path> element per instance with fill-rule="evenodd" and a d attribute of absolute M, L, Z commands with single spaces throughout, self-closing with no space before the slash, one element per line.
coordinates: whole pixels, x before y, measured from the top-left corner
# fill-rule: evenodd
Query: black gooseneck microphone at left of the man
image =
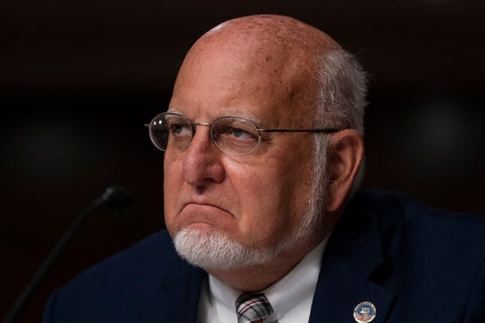
<path fill-rule="evenodd" d="M 106 207 L 111 212 L 119 213 L 123 211 L 129 205 L 129 203 L 130 198 L 127 191 L 119 186 L 112 186 L 110 188 L 107 188 L 101 196 L 96 198 L 90 205 L 88 205 L 84 209 L 84 211 L 77 215 L 75 221 L 71 223 L 71 226 L 57 241 L 56 246 L 54 246 L 54 248 L 50 250 L 50 252 L 48 253 L 48 257 L 44 259 L 37 272 L 32 276 L 29 284 L 27 284 L 21 294 L 17 297 L 17 299 L 13 303 L 12 308 L 8 311 L 4 319 L 4 323 L 13 323 L 15 319 L 17 319 L 23 307 L 31 298 L 33 292 L 35 292 L 42 279 L 48 273 L 50 267 L 56 262 L 57 258 L 59 258 L 62 250 L 73 238 L 75 232 L 79 230 L 88 215 L 92 214 L 94 210 L 102 205 L 106 205 Z"/>

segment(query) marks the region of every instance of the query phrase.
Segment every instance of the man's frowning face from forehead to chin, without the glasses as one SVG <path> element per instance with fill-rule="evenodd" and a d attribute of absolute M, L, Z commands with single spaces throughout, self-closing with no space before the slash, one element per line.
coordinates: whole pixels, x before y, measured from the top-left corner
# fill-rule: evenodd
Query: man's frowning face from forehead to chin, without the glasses
<path fill-rule="evenodd" d="M 292 99 L 292 85 L 268 72 L 278 65 L 246 58 L 230 50 L 186 58 L 169 111 L 197 123 L 242 116 L 260 128 L 309 127 L 298 118 L 304 113 L 301 100 Z M 230 156 L 212 144 L 208 132 L 198 126 L 188 148 L 165 153 L 164 214 L 172 237 L 177 242 L 192 232 L 193 243 L 202 241 L 196 249 L 210 249 L 211 243 L 242 248 L 235 253 L 293 248 L 288 244 L 296 243 L 309 210 L 313 136 L 263 133 L 255 152 Z"/>

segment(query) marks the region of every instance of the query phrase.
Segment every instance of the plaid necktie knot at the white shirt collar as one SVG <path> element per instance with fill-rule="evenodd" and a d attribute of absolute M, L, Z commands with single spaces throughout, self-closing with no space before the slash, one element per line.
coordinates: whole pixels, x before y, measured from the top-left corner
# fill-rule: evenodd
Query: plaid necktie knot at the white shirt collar
<path fill-rule="evenodd" d="M 235 305 L 238 323 L 262 323 L 273 312 L 271 304 L 261 292 L 244 292 Z"/>

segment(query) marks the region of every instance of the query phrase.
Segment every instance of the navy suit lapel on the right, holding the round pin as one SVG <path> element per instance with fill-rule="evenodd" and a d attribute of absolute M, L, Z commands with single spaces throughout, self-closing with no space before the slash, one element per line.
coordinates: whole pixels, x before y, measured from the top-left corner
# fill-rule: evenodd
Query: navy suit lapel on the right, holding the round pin
<path fill-rule="evenodd" d="M 322 260 L 310 323 L 354 322 L 357 304 L 375 305 L 373 323 L 385 321 L 393 292 L 375 283 L 383 263 L 377 216 L 363 205 L 349 205 L 333 231 Z"/>

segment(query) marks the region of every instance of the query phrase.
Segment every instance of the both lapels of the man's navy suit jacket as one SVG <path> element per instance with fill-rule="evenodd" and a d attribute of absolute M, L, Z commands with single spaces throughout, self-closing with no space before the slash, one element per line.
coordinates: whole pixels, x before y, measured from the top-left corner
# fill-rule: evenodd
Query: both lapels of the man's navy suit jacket
<path fill-rule="evenodd" d="M 352 322 L 358 303 L 375 305 L 373 323 L 385 321 L 394 293 L 379 284 L 385 279 L 383 245 L 378 211 L 365 196 L 355 196 L 331 234 L 313 297 L 310 323 Z M 153 301 L 142 310 L 140 322 L 193 323 L 198 298 L 207 274 L 178 258 L 167 261 Z"/>

